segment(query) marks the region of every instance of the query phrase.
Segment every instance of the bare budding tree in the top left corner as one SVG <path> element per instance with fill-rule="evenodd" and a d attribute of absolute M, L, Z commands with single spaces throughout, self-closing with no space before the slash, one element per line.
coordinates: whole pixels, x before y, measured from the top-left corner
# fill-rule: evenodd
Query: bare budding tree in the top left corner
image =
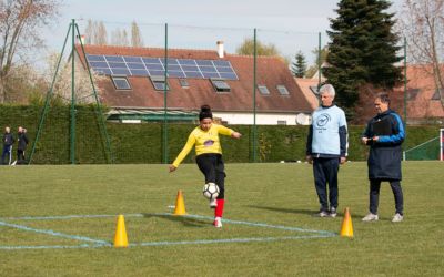
<path fill-rule="evenodd" d="M 58 0 L 0 0 L 0 103 L 8 100 L 11 70 L 42 45 L 39 28 L 56 18 Z"/>

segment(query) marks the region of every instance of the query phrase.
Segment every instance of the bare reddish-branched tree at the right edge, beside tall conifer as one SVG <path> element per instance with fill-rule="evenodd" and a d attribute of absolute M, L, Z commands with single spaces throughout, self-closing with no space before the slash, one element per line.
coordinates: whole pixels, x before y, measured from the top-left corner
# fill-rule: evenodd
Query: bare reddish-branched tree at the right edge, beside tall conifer
<path fill-rule="evenodd" d="M 400 25 L 408 57 L 432 75 L 444 107 L 444 0 L 405 0 Z"/>

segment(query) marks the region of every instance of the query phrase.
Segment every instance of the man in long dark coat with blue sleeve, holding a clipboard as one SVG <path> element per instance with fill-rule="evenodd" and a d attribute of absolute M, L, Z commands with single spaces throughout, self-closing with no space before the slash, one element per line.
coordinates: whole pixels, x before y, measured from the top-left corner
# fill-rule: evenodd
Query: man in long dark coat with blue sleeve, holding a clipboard
<path fill-rule="evenodd" d="M 370 120 L 362 136 L 362 143 L 370 146 L 367 166 L 370 179 L 370 214 L 363 222 L 377 220 L 377 205 L 381 182 L 390 183 L 395 197 L 395 215 L 392 222 L 402 222 L 403 191 L 401 187 L 401 144 L 404 142 L 405 132 L 401 116 L 390 109 L 390 98 L 386 93 L 377 94 L 374 106 L 377 115 Z"/>

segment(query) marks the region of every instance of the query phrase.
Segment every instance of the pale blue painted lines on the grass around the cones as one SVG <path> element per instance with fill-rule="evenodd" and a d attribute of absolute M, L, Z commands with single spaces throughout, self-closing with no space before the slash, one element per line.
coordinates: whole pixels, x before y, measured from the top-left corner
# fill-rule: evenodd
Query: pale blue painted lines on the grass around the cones
<path fill-rule="evenodd" d="M 124 214 L 125 217 L 145 217 L 145 216 L 175 216 L 171 213 L 152 213 L 152 214 Z M 104 218 L 104 217 L 117 217 L 117 215 L 64 215 L 64 216 L 23 216 L 23 217 L 3 217 L 0 218 L 0 226 L 12 227 L 20 230 L 33 232 L 39 234 L 46 234 L 50 236 L 63 237 L 69 239 L 88 242 L 81 245 L 41 245 L 41 246 L 2 246 L 0 249 L 4 250 L 18 250 L 18 249 L 73 249 L 73 248 L 99 248 L 99 247 L 112 247 L 111 242 L 94 239 L 85 236 L 68 235 L 51 229 L 38 229 L 31 228 L 24 225 L 11 224 L 4 220 L 64 220 L 75 218 Z M 202 215 L 182 215 L 182 217 L 189 218 L 201 218 L 213 220 L 213 217 Z M 143 242 L 132 243 L 129 246 L 168 246 L 168 245 L 200 245 L 200 244 L 225 244 L 225 243 L 250 243 L 250 242 L 278 242 L 278 240 L 290 240 L 290 239 L 310 239 L 310 238 L 327 238 L 336 237 L 337 234 L 326 230 L 314 230 L 304 229 L 299 227 L 289 227 L 282 225 L 270 225 L 265 223 L 252 223 L 242 220 L 223 219 L 225 224 L 238 224 L 246 225 L 260 228 L 274 228 L 281 230 L 299 232 L 299 233 L 312 233 L 313 235 L 302 236 L 282 236 L 282 237 L 248 237 L 248 238 L 228 238 L 228 239 L 199 239 L 199 240 L 178 240 L 178 242 Z"/>

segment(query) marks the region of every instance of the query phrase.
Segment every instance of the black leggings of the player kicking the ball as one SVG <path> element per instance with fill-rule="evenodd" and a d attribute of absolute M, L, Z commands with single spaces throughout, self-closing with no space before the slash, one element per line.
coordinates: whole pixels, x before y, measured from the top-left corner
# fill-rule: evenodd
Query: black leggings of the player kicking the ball
<path fill-rule="evenodd" d="M 225 198 L 225 166 L 221 154 L 201 154 L 195 157 L 199 170 L 205 175 L 205 184 L 215 183 L 220 193 L 218 199 Z"/>

